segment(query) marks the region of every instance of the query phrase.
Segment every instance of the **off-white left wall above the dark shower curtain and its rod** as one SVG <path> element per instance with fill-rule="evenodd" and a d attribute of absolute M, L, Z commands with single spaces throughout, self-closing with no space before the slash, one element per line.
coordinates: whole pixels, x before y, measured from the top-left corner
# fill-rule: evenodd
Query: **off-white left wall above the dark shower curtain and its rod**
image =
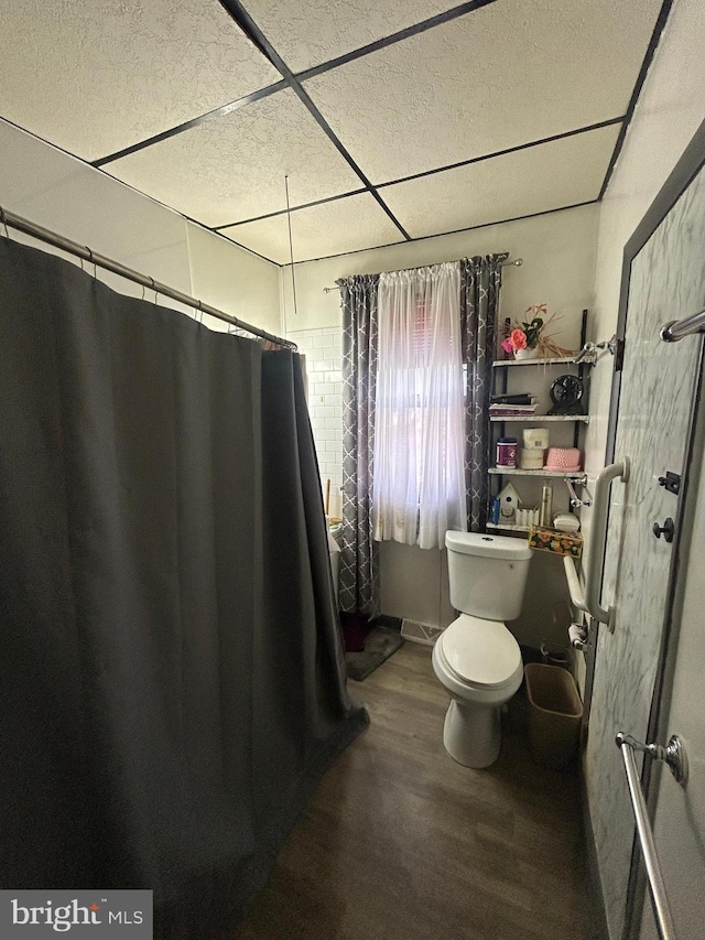
<path fill-rule="evenodd" d="M 2 120 L 0 206 L 226 313 L 281 333 L 278 266 Z M 12 229 L 10 237 L 31 241 Z M 98 277 L 121 293 L 142 294 L 140 287 L 122 278 L 106 271 Z M 178 307 L 173 301 L 158 302 Z M 210 317 L 204 322 L 227 328 Z"/>

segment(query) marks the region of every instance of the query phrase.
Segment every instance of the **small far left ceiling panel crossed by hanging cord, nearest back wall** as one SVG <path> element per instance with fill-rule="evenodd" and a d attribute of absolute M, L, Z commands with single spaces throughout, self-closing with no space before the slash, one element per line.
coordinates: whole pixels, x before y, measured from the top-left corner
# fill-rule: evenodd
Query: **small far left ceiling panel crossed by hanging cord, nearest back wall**
<path fill-rule="evenodd" d="M 403 241 L 397 226 L 369 193 L 299 209 L 291 214 L 291 229 L 294 261 Z M 221 234 L 279 264 L 289 262 L 285 215 L 231 226 Z"/>

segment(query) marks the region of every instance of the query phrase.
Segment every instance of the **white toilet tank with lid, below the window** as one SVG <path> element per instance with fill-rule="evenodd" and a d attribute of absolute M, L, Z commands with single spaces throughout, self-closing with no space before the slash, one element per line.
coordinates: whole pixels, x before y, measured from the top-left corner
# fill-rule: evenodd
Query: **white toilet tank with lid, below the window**
<path fill-rule="evenodd" d="M 521 613 L 531 549 L 507 536 L 445 533 L 451 604 L 485 620 L 514 620 Z"/>

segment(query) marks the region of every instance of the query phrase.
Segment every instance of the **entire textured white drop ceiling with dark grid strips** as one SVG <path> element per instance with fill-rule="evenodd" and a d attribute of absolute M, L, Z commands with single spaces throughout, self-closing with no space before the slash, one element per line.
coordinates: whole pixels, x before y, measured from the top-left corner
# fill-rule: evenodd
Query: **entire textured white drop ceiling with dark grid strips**
<path fill-rule="evenodd" d="M 288 176 L 291 205 L 304 206 L 291 215 L 294 258 L 306 260 L 600 198 L 661 11 L 662 0 L 4 3 L 0 118 L 278 263 Z"/>

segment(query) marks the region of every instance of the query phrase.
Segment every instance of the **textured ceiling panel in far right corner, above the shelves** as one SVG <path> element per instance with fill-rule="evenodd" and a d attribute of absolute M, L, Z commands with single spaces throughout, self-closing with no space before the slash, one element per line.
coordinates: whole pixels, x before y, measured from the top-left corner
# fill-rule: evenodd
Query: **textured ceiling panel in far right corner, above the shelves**
<path fill-rule="evenodd" d="M 596 199 L 617 140 L 603 128 L 379 192 L 413 238 Z"/>

